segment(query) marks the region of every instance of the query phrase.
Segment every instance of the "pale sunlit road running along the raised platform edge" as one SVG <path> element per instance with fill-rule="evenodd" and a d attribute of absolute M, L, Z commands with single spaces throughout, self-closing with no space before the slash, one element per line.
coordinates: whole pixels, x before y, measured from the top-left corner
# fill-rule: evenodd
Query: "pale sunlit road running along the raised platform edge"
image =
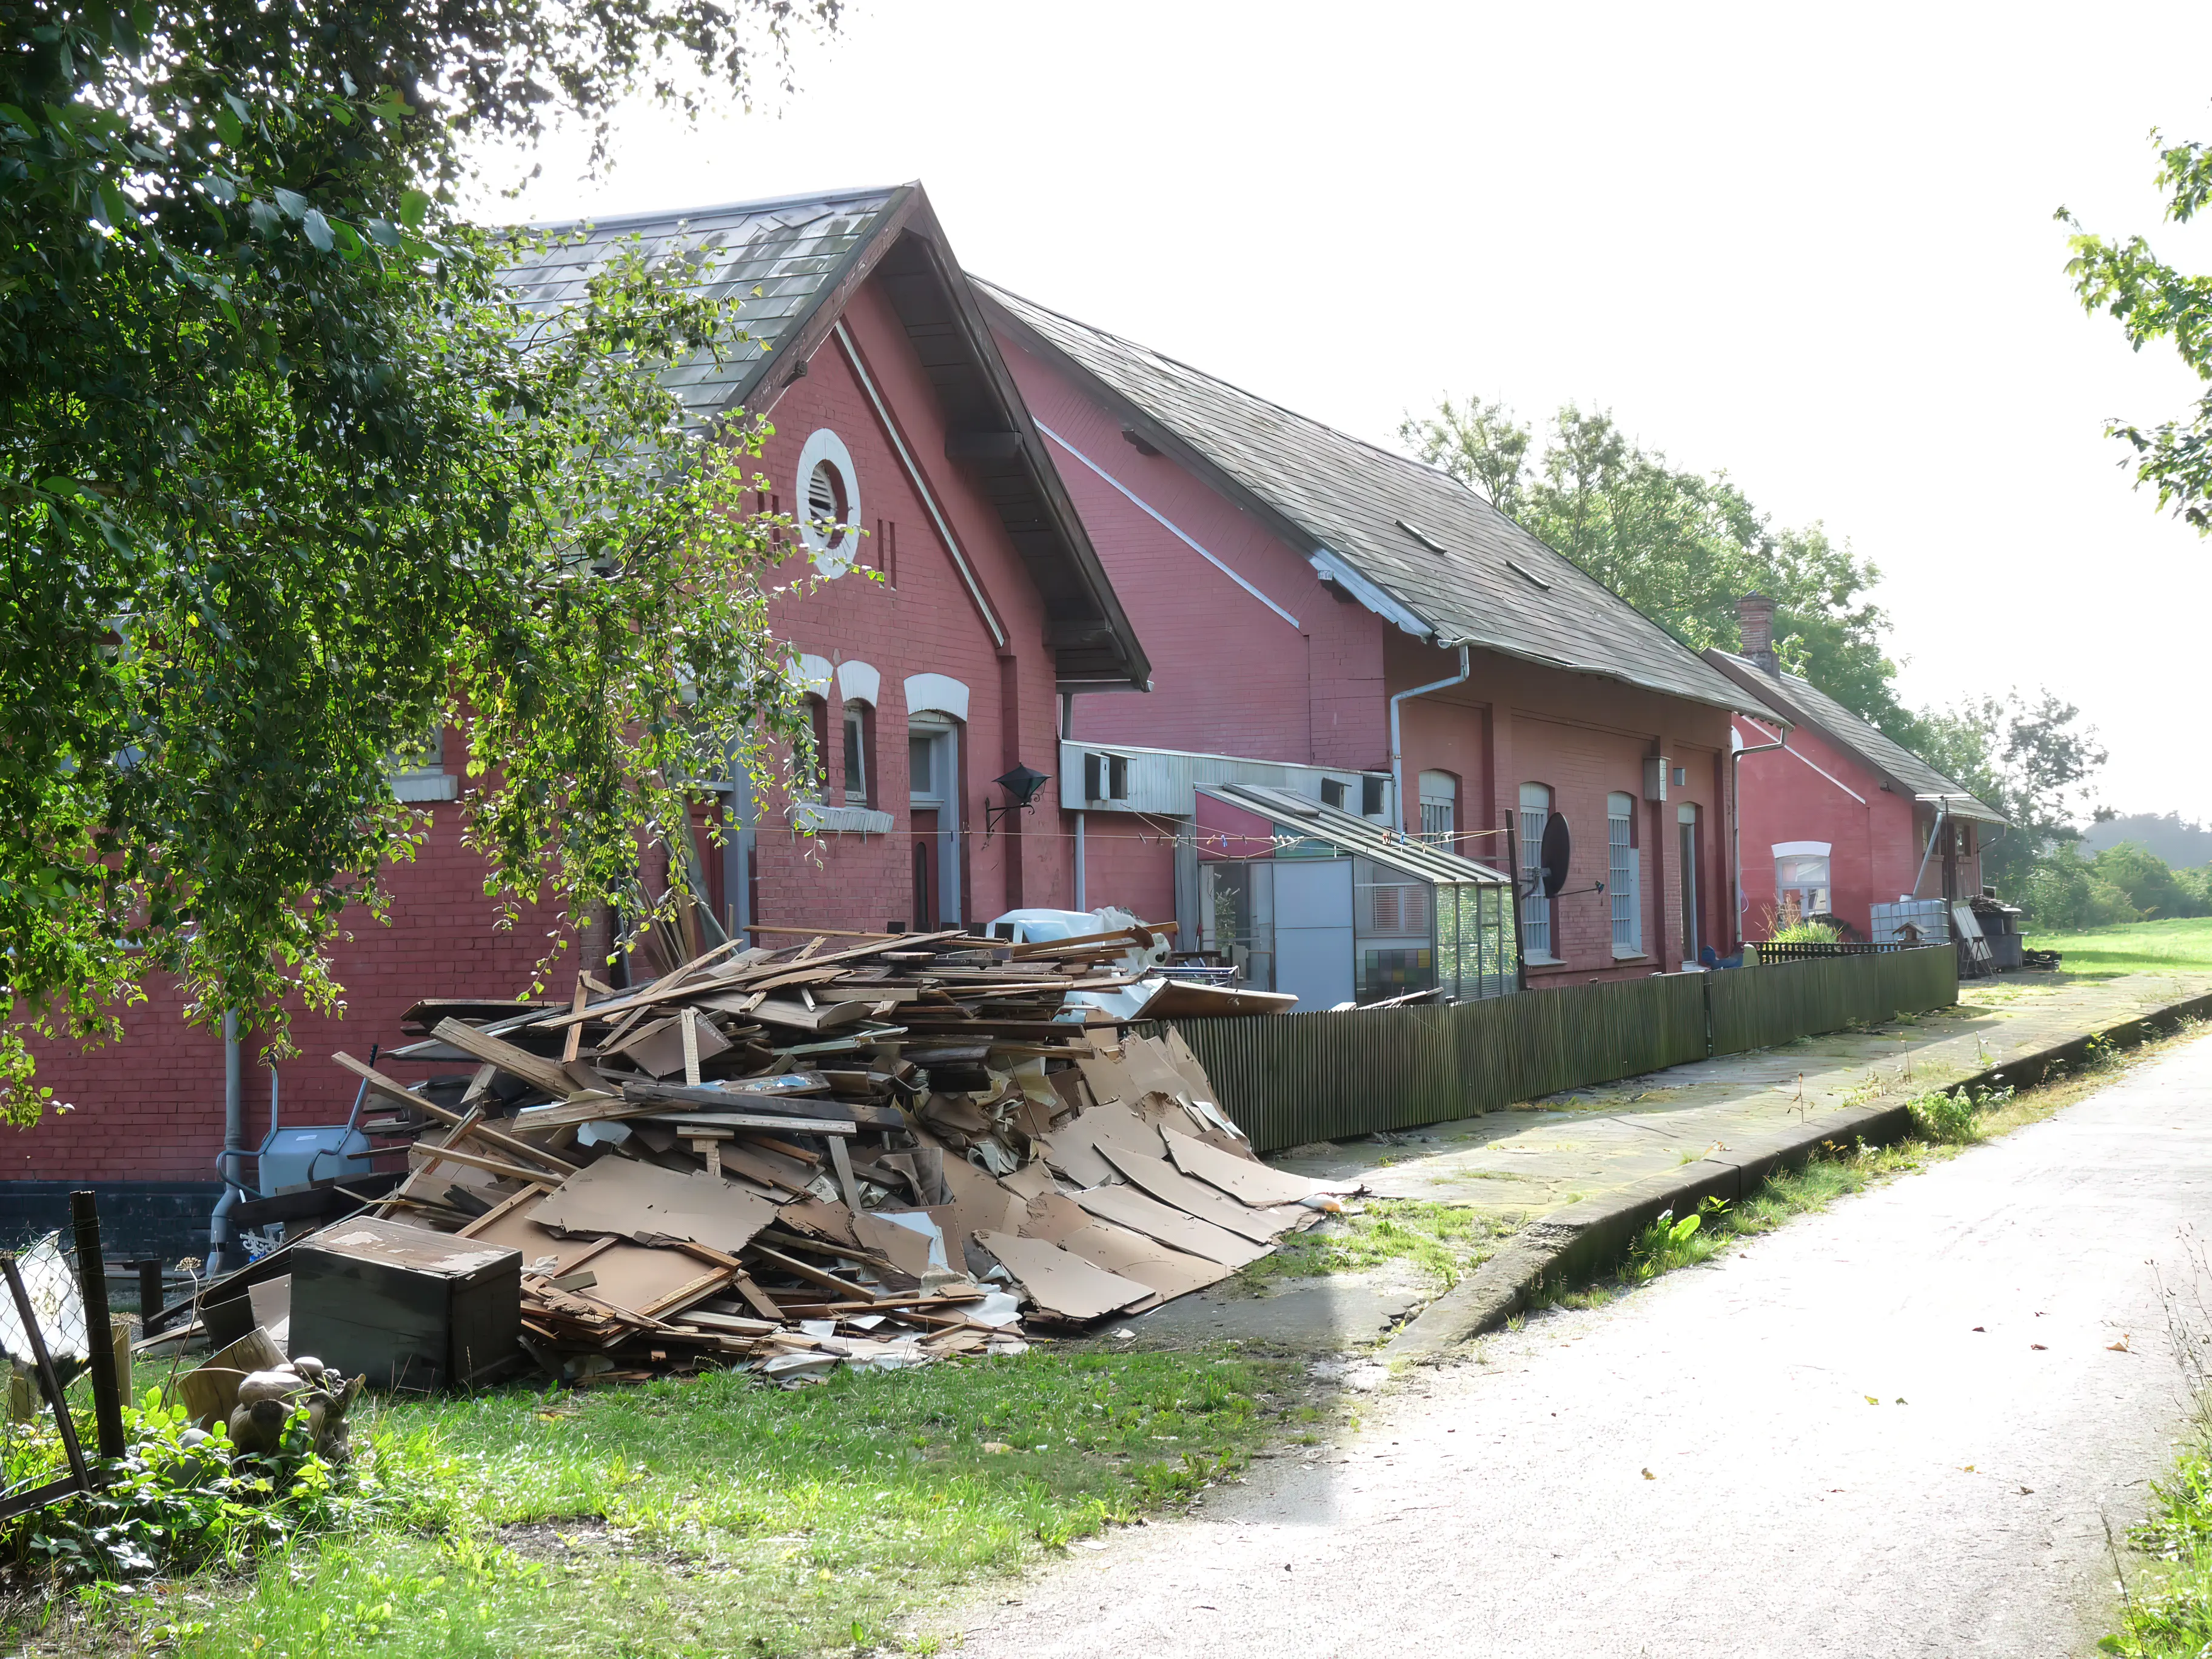
<path fill-rule="evenodd" d="M 1394 1385 L 971 1608 L 964 1659 L 2088 1652 L 2183 1420 L 2150 1263 L 2185 1285 L 2208 1210 L 2212 1040 Z"/>

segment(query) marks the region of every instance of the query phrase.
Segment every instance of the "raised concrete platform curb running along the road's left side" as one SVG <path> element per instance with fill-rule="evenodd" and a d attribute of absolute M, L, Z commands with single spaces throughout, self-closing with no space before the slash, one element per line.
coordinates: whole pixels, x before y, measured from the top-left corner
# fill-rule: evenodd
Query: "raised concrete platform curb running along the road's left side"
<path fill-rule="evenodd" d="M 1969 1077 L 1944 1082 L 1953 1088 L 1989 1088 L 1995 1082 L 2033 1088 L 2062 1066 L 2088 1055 L 2090 1042 L 2132 1048 L 2172 1031 L 2181 1020 L 2212 1015 L 2212 995 L 2185 998 L 2146 1015 L 2121 1020 L 2079 1037 L 2015 1055 L 2002 1066 L 1989 1066 Z M 1683 1164 L 1630 1181 L 1564 1210 L 1531 1221 L 1495 1256 L 1447 1290 L 1383 1347 L 1385 1360 L 1433 1360 L 1460 1343 L 1498 1329 L 1528 1305 L 1528 1298 L 1551 1281 L 1590 1279 L 1619 1261 L 1630 1241 L 1661 1212 L 1686 1214 L 1705 1199 L 1736 1203 L 1756 1192 L 1770 1175 L 1803 1168 L 1823 1146 L 1905 1139 L 1913 1115 L 1905 1102 L 1889 1106 L 1851 1106 L 1820 1117 L 1805 1117 L 1781 1130 L 1732 1146 L 1721 1157 Z"/>

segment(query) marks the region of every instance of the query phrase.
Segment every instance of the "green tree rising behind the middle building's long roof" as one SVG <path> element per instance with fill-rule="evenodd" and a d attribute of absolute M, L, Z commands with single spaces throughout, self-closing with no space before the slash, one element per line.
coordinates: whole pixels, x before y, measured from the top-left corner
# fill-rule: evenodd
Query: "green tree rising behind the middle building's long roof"
<path fill-rule="evenodd" d="M 1562 407 L 1542 449 L 1511 409 L 1475 398 L 1409 416 L 1398 436 L 1699 650 L 1736 648 L 1736 599 L 1770 595 L 1792 672 L 1900 741 L 1916 732 L 1882 648 L 1889 619 L 1867 597 L 1880 573 L 1818 524 L 1772 524 L 1725 473 L 1672 467 L 1601 409 Z"/>

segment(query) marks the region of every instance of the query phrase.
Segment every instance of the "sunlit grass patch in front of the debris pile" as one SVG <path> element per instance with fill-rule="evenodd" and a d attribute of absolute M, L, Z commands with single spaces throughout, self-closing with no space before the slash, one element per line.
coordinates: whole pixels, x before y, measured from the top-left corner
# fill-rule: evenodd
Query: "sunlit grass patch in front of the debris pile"
<path fill-rule="evenodd" d="M 1037 1349 L 790 1391 L 712 1371 L 392 1405 L 356 1433 L 414 1491 L 405 1513 L 119 1615 L 40 1606 L 11 1635 L 62 1617 L 82 1630 L 49 1626 L 51 1652 L 159 1635 L 195 1659 L 894 1646 L 953 1586 L 1188 1500 L 1318 1420 L 1301 1378 L 1223 1349 Z"/>

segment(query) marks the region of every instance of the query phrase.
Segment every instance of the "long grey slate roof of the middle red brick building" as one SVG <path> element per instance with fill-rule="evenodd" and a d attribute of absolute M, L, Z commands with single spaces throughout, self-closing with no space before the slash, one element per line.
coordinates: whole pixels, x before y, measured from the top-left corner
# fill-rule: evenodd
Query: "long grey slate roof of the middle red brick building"
<path fill-rule="evenodd" d="M 1690 646 L 1436 467 L 995 283 L 975 285 L 1015 338 L 1075 369 L 1139 436 L 1212 476 L 1305 546 L 1316 571 L 1409 633 L 1756 708 Z"/>

